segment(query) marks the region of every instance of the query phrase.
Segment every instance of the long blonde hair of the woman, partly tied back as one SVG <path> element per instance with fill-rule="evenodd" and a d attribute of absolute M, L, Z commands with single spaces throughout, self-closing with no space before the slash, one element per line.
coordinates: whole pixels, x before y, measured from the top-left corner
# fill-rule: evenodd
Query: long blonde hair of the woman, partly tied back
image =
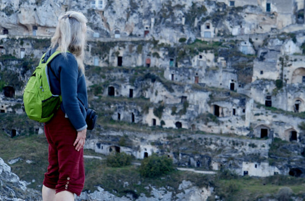
<path fill-rule="evenodd" d="M 86 45 L 86 17 L 75 11 L 69 11 L 58 17 L 56 31 L 51 39 L 51 48 L 57 47 L 65 58 L 67 51 L 75 55 L 78 68 L 84 73 L 84 58 Z"/>

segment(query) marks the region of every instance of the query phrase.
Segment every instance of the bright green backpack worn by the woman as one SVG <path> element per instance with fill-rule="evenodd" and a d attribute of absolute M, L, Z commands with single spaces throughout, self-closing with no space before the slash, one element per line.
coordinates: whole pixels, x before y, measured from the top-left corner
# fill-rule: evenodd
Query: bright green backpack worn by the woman
<path fill-rule="evenodd" d="M 29 78 L 23 93 L 25 113 L 29 119 L 38 122 L 48 122 L 62 102 L 61 95 L 51 93 L 47 68 L 55 56 L 60 54 L 60 51 L 55 51 L 47 62 L 42 63 L 45 54 Z"/>

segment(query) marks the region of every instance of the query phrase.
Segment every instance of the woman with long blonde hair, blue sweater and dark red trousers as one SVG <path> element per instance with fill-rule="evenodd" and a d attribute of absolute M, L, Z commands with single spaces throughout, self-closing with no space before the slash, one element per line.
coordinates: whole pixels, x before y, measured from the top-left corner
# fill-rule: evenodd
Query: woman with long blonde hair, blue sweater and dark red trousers
<path fill-rule="evenodd" d="M 51 49 L 44 61 L 59 50 L 48 65 L 52 94 L 62 95 L 54 117 L 45 123 L 49 143 L 49 166 L 42 187 L 42 198 L 74 200 L 84 186 L 83 146 L 86 138 L 87 90 L 84 76 L 86 17 L 69 11 L 58 18 Z M 69 52 L 67 52 L 69 51 Z"/>

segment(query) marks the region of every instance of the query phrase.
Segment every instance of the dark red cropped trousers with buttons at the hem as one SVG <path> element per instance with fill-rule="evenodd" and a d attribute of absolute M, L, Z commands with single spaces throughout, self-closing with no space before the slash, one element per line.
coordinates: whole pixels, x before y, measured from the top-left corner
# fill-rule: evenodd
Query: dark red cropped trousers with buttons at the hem
<path fill-rule="evenodd" d="M 80 195 L 85 182 L 83 149 L 75 150 L 73 143 L 77 131 L 58 109 L 54 117 L 44 125 L 49 142 L 49 166 L 43 184 L 56 190 Z"/>

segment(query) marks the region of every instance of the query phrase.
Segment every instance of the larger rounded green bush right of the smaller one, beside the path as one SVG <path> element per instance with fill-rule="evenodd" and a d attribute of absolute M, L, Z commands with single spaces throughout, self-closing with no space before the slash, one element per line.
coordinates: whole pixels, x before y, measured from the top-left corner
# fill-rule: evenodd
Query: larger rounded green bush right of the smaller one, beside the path
<path fill-rule="evenodd" d="M 173 171 L 173 161 L 167 156 L 152 154 L 141 162 L 140 174 L 143 177 L 154 178 Z"/>

